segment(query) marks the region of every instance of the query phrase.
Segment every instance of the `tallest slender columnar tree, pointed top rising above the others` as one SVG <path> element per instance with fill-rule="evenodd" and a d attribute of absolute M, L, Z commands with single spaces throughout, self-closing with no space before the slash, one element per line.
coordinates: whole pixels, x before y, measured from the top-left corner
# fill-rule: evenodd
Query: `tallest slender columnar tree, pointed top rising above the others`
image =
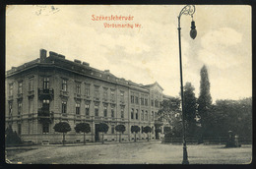
<path fill-rule="evenodd" d="M 201 117 L 200 123 L 201 123 L 203 134 L 204 134 L 206 132 L 206 128 L 207 128 L 206 125 L 208 123 L 207 116 L 212 105 L 212 96 L 210 93 L 210 82 L 208 78 L 207 67 L 205 65 L 202 67 L 200 71 L 200 76 L 201 76 L 201 81 L 200 81 L 200 94 L 198 97 L 198 114 Z M 203 139 L 202 137 L 200 137 L 201 138 L 200 142 L 202 142 L 202 139 Z"/>

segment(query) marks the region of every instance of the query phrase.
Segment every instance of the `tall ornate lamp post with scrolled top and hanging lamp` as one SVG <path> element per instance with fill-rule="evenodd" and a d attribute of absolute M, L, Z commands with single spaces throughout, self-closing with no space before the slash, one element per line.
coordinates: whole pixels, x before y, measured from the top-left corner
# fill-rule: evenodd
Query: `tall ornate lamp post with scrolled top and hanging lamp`
<path fill-rule="evenodd" d="M 182 80 L 182 60 L 181 60 L 181 39 L 180 39 L 180 18 L 184 15 L 189 15 L 192 18 L 190 36 L 191 38 L 196 38 L 197 30 L 195 27 L 195 22 L 193 21 L 193 14 L 196 8 L 194 5 L 186 5 L 179 13 L 178 16 L 178 42 L 179 42 L 179 67 L 180 67 L 180 90 L 181 90 L 181 109 L 182 109 L 182 125 L 183 125 L 183 160 L 182 164 L 189 164 L 187 155 L 187 145 L 186 145 L 186 127 L 185 127 L 185 114 L 184 114 L 184 99 L 183 99 L 183 80 Z"/>

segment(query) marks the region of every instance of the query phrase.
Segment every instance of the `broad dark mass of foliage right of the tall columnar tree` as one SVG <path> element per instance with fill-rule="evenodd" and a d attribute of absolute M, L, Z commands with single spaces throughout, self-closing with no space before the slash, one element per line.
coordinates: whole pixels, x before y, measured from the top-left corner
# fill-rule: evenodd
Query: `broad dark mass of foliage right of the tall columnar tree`
<path fill-rule="evenodd" d="M 242 138 L 252 137 L 252 98 L 217 100 L 206 120 L 205 137 L 226 137 L 228 131 Z"/>

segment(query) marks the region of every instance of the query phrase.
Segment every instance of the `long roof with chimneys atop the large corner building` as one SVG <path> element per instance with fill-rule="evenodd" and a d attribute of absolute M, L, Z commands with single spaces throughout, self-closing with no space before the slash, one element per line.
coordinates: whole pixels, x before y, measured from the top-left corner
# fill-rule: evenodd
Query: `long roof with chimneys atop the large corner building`
<path fill-rule="evenodd" d="M 44 50 L 44 49 L 42 49 Z M 46 52 L 46 50 L 45 50 Z M 80 60 L 75 59 L 74 61 L 70 61 L 65 59 L 65 56 L 62 54 L 58 54 L 56 52 L 49 52 L 49 56 L 45 58 L 37 58 L 31 62 L 27 62 L 19 67 L 12 67 L 11 70 L 6 72 L 6 77 L 10 77 L 12 75 L 19 74 L 25 70 L 31 69 L 36 66 L 43 67 L 57 67 L 60 69 L 64 69 L 67 71 L 72 71 L 75 73 L 79 73 L 82 75 L 89 76 L 91 78 L 96 78 L 99 80 L 107 81 L 114 84 L 122 84 L 126 86 L 133 86 L 133 88 L 140 89 L 142 91 L 148 91 L 150 86 L 159 85 L 157 82 L 155 84 L 136 84 L 132 81 L 127 81 L 123 78 L 117 78 L 113 74 L 110 73 L 109 70 L 100 71 L 96 68 L 90 67 L 90 64 L 87 62 L 82 62 Z M 160 86 L 162 89 L 162 87 Z M 162 89 L 163 90 L 163 89 Z"/>

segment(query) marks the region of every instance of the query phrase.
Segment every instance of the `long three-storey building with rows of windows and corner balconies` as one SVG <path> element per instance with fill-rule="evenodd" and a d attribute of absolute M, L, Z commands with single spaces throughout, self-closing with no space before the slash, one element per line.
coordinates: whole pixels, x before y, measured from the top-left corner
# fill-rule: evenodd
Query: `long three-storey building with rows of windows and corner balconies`
<path fill-rule="evenodd" d="M 83 141 L 74 127 L 89 123 L 87 141 L 100 141 L 96 125 L 109 127 L 105 141 L 117 141 L 116 125 L 126 131 L 122 141 L 133 141 L 131 126 L 150 126 L 150 139 L 160 139 L 156 126 L 160 102 L 165 98 L 160 84 L 135 84 L 116 78 L 108 70 L 96 70 L 86 62 L 66 60 L 55 52 L 40 50 L 40 57 L 6 73 L 6 127 L 11 126 L 23 141 L 60 143 L 62 135 L 53 127 L 68 122 L 67 142 Z M 167 98 L 167 97 L 166 97 Z M 162 131 L 162 127 L 160 127 Z M 138 140 L 146 140 L 140 132 Z"/>

